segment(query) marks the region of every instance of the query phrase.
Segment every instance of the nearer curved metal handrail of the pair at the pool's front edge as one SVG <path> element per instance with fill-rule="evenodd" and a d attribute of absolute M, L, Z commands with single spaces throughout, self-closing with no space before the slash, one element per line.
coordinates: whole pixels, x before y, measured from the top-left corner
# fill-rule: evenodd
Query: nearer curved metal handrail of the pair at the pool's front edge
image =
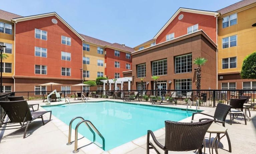
<path fill-rule="evenodd" d="M 73 151 L 73 153 L 77 153 L 79 151 L 79 149 L 77 149 L 77 135 L 78 135 L 78 127 L 82 124 L 85 123 L 86 125 L 88 125 L 87 123 L 89 123 L 92 128 L 94 129 L 94 131 L 96 131 L 96 133 L 99 135 L 99 137 L 102 139 L 102 149 L 105 150 L 105 139 L 104 137 L 100 134 L 100 132 L 97 130 L 97 128 L 89 121 L 89 120 L 83 120 L 80 121 L 76 127 L 75 127 L 75 149 Z M 95 139 L 93 138 L 93 142 L 95 142 Z"/>

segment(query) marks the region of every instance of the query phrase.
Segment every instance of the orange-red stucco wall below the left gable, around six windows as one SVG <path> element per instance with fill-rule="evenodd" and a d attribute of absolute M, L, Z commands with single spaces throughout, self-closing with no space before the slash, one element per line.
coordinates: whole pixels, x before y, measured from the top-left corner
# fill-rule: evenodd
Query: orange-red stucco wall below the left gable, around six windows
<path fill-rule="evenodd" d="M 52 19 L 57 24 L 51 22 Z M 35 38 L 35 28 L 47 31 L 47 40 Z M 82 40 L 55 16 L 18 22 L 15 35 L 15 76 L 80 79 Z M 71 46 L 61 44 L 61 35 L 71 38 Z M 35 56 L 35 46 L 47 48 L 47 58 Z M 61 60 L 61 51 L 71 53 L 71 61 Z M 47 75 L 35 74 L 36 65 L 46 65 Z M 71 76 L 61 76 L 61 67 L 71 68 Z"/>

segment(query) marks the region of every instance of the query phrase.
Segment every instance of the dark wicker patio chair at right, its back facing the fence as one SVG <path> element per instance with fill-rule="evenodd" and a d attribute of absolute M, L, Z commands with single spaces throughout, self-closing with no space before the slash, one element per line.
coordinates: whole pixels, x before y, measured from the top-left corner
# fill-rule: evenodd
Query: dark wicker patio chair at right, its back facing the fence
<path fill-rule="evenodd" d="M 242 98 L 242 99 L 241 98 L 240 99 L 231 98 L 230 99 L 230 106 L 232 106 L 231 110 L 229 112 L 230 125 L 232 125 L 232 120 L 234 120 L 234 115 L 243 115 L 245 125 L 247 124 L 246 123 L 246 117 L 245 117 L 245 114 L 243 112 L 244 103 L 246 102 L 246 100 L 247 100 L 246 98 Z M 232 119 L 231 119 L 231 115 L 233 115 Z"/>

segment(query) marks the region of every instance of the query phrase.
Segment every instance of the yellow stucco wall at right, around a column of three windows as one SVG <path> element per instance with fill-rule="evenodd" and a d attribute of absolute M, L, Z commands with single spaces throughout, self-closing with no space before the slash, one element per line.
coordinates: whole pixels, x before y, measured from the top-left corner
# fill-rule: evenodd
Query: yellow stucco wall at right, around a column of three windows
<path fill-rule="evenodd" d="M 236 10 L 218 19 L 218 73 L 240 72 L 243 59 L 256 51 L 256 6 Z M 240 12 L 239 12 L 240 11 Z M 222 18 L 237 13 L 237 24 L 222 28 Z M 222 49 L 222 38 L 237 35 L 237 46 Z M 222 59 L 237 57 L 237 68 L 222 69 Z"/>

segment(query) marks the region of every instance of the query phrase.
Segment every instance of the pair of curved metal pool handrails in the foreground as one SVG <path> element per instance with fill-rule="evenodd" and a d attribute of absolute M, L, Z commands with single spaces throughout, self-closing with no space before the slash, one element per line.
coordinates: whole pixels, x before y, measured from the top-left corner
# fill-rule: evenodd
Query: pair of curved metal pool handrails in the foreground
<path fill-rule="evenodd" d="M 67 145 L 71 145 L 72 144 L 72 142 L 71 142 L 71 130 L 72 130 L 72 123 L 73 123 L 73 121 L 75 120 L 75 119 L 81 119 L 82 121 L 80 121 L 77 125 L 76 125 L 76 127 L 75 127 L 75 149 L 73 150 L 73 153 L 77 153 L 78 151 L 79 151 L 79 149 L 77 149 L 77 136 L 78 136 L 78 127 L 82 124 L 82 123 L 84 123 L 87 127 L 88 127 L 88 129 L 91 131 L 91 133 L 93 134 L 93 143 L 95 142 L 95 140 L 96 140 L 96 137 L 95 137 L 95 133 L 94 133 L 94 131 L 99 135 L 99 137 L 102 139 L 102 147 L 100 147 L 100 148 L 102 148 L 103 150 L 105 150 L 105 139 L 104 139 L 104 137 L 100 134 L 100 132 L 97 130 L 97 128 L 89 121 L 89 120 L 84 120 L 84 118 L 83 117 L 75 117 L 75 118 L 73 118 L 71 121 L 70 121 L 70 123 L 69 123 L 69 132 L 68 132 L 68 143 L 67 143 Z M 90 127 L 90 125 L 88 125 L 88 123 L 91 125 L 91 127 L 93 128 L 93 130 L 92 130 L 92 128 Z M 96 144 L 97 145 L 97 144 Z"/>

